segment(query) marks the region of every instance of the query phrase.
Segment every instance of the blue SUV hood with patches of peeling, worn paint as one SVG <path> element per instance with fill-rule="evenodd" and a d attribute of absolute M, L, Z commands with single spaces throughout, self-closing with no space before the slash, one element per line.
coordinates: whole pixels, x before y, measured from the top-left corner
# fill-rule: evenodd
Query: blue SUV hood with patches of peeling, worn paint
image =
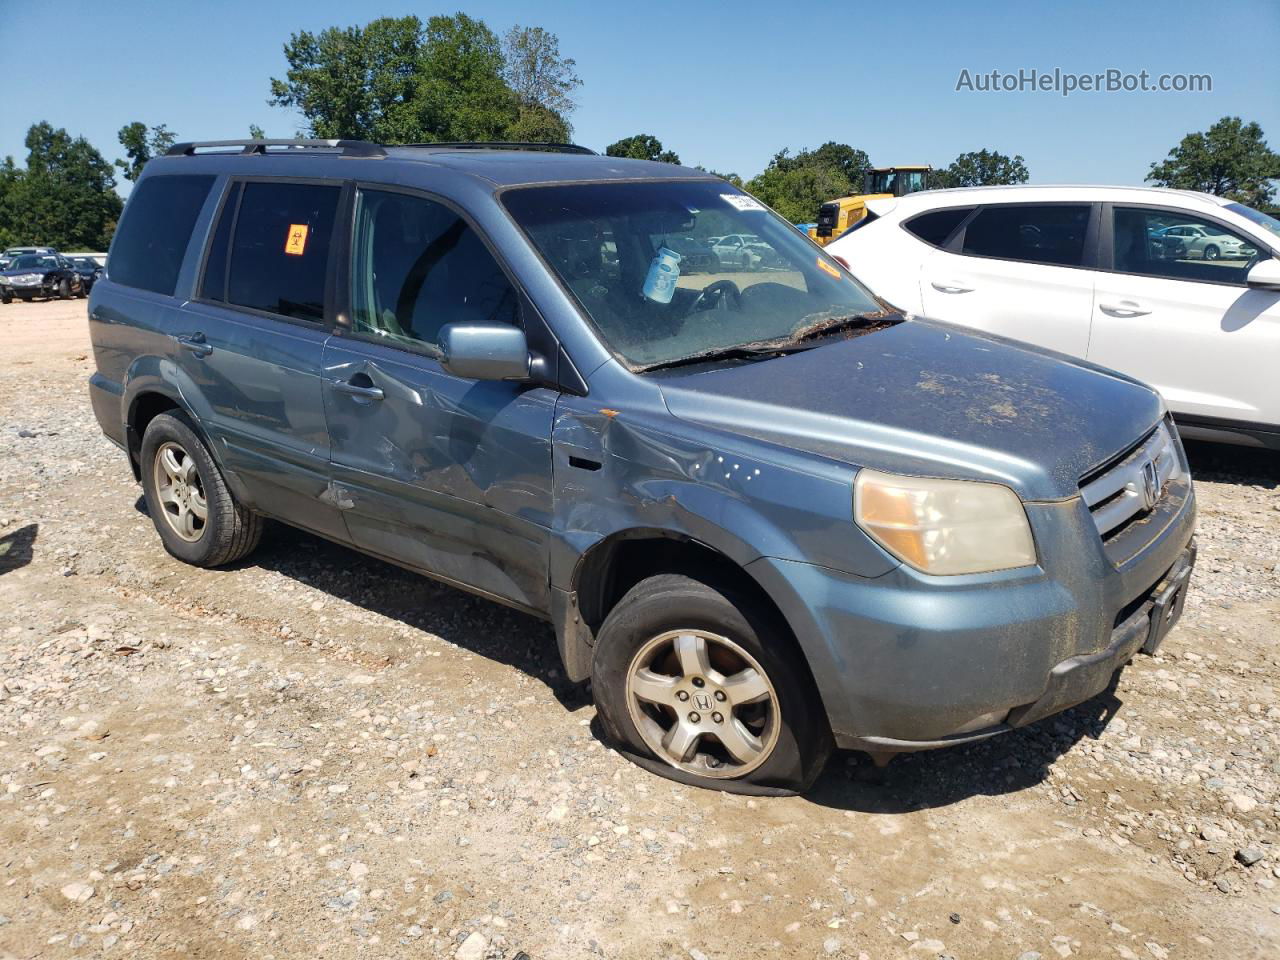
<path fill-rule="evenodd" d="M 855 467 L 993 480 L 1023 499 L 1079 480 L 1162 415 L 1137 380 L 1060 353 L 910 320 L 776 360 L 660 380 L 672 415 Z"/>

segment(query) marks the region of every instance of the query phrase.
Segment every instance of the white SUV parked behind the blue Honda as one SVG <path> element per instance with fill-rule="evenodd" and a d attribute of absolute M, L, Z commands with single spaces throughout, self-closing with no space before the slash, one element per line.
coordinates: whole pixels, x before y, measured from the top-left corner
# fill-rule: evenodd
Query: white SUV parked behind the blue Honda
<path fill-rule="evenodd" d="M 1274 218 L 1143 187 L 974 187 L 867 207 L 827 251 L 891 303 L 1146 380 L 1187 436 L 1280 449 Z"/>

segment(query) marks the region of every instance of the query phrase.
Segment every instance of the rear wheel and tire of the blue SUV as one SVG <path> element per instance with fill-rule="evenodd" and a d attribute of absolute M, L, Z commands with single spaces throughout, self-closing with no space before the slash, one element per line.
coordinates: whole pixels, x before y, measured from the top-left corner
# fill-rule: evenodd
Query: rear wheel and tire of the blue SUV
<path fill-rule="evenodd" d="M 236 502 L 209 449 L 180 412 L 160 413 L 147 424 L 142 493 L 164 548 L 184 563 L 233 563 L 262 538 L 262 518 Z"/>

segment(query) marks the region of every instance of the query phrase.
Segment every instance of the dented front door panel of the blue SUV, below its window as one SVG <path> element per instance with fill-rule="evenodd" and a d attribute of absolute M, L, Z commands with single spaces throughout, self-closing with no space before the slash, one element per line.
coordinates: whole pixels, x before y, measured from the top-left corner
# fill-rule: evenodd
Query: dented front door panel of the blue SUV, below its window
<path fill-rule="evenodd" d="M 548 602 L 556 393 L 333 338 L 330 497 L 361 548 L 538 612 Z"/>

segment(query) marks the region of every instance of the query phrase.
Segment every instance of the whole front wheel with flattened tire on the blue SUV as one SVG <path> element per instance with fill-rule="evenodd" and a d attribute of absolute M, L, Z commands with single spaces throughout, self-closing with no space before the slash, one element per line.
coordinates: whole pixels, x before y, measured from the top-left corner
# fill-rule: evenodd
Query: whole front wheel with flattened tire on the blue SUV
<path fill-rule="evenodd" d="M 646 769 L 742 794 L 797 794 L 831 754 L 800 650 L 728 585 L 643 580 L 599 630 L 591 689 L 607 736 Z"/>

